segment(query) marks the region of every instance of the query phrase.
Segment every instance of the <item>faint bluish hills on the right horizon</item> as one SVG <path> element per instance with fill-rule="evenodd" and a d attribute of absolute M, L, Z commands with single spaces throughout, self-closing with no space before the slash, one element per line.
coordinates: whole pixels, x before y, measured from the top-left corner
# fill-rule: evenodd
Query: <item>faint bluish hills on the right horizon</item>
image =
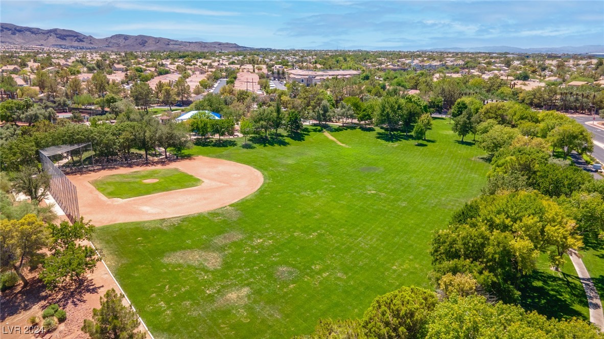
<path fill-rule="evenodd" d="M 512 46 L 483 46 L 483 47 L 449 47 L 449 48 L 431 48 L 422 51 L 431 52 L 487 52 L 487 53 L 553 53 L 553 54 L 595 54 L 603 53 L 604 45 L 585 45 L 585 46 L 562 46 L 562 47 L 542 47 L 542 48 L 519 48 Z"/>

